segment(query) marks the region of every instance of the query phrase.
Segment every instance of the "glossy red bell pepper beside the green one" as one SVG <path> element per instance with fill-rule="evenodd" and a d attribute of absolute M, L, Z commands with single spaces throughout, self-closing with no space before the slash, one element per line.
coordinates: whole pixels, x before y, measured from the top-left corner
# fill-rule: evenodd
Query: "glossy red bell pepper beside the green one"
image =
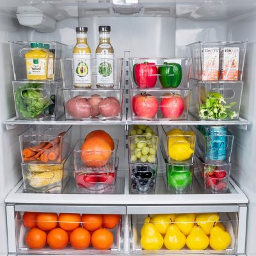
<path fill-rule="evenodd" d="M 156 63 L 144 62 L 133 65 L 133 79 L 140 88 L 152 88 L 157 81 Z"/>

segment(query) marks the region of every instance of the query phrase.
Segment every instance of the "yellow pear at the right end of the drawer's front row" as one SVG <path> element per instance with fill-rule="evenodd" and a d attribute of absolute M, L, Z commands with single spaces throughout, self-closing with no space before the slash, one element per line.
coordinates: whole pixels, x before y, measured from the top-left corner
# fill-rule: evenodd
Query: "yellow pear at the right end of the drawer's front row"
<path fill-rule="evenodd" d="M 213 250 L 223 251 L 228 248 L 232 239 L 227 231 L 215 226 L 211 228 L 210 246 Z"/>

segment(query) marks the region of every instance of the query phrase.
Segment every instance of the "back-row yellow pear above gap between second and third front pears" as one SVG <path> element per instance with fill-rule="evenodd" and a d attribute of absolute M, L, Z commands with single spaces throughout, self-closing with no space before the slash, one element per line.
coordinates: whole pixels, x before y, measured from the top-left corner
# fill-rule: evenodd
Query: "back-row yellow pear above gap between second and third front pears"
<path fill-rule="evenodd" d="M 176 215 L 175 224 L 185 236 L 188 236 L 195 226 L 195 213 L 182 213 Z"/>

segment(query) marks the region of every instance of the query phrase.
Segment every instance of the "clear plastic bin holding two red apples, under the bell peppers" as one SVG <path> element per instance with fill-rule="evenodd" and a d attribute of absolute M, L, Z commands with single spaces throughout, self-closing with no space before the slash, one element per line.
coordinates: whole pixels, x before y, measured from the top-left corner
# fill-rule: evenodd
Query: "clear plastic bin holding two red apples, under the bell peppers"
<path fill-rule="evenodd" d="M 187 120 L 190 90 L 130 90 L 132 120 Z"/>

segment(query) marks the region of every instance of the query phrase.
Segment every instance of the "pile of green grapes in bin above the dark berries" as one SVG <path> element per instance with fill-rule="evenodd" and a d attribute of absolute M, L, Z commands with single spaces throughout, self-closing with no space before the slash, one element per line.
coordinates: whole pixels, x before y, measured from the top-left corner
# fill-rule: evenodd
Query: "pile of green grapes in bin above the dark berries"
<path fill-rule="evenodd" d="M 129 131 L 131 163 L 155 163 L 158 136 L 149 125 L 133 125 Z"/>

